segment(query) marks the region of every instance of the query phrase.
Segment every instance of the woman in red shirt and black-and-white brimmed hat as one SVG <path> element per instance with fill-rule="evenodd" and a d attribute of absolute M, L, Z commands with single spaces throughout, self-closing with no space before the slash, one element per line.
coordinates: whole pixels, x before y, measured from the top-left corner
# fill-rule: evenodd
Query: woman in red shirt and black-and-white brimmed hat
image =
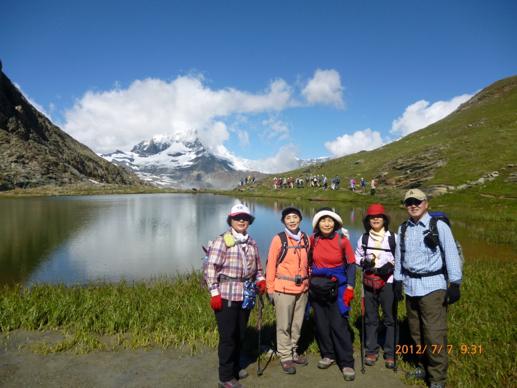
<path fill-rule="evenodd" d="M 348 319 L 354 297 L 356 263 L 348 238 L 337 233 L 342 227 L 341 217 L 330 207 L 318 209 L 312 219 L 315 234 L 311 236 L 309 298 L 322 355 L 318 368 L 338 364 L 343 378 L 352 381 L 355 379 L 354 347 Z M 323 288 L 330 285 L 332 291 L 316 293 L 318 283 Z M 335 287 L 338 287 L 337 292 Z"/>

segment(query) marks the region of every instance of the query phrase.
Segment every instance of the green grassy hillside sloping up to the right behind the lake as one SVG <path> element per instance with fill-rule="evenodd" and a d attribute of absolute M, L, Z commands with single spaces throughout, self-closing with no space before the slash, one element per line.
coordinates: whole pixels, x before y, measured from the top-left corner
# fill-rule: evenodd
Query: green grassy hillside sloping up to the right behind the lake
<path fill-rule="evenodd" d="M 358 199 L 358 191 L 347 191 L 348 181 L 354 177 L 360 182 L 364 177 L 367 191 L 374 178 L 378 183 L 377 198 L 394 200 L 408 188 L 419 187 L 433 197 L 438 189 L 450 192 L 497 171 L 499 176 L 494 181 L 460 191 L 517 198 L 517 180 L 510 176 L 517 172 L 517 167 L 508 167 L 517 165 L 516 140 L 517 76 L 514 76 L 486 87 L 443 120 L 398 141 L 280 174 L 287 177 L 324 174 L 329 180 L 338 174 L 339 192 L 314 188 L 275 190 L 271 177 L 252 186 L 239 186 L 235 191 L 272 197 L 352 200 Z"/>

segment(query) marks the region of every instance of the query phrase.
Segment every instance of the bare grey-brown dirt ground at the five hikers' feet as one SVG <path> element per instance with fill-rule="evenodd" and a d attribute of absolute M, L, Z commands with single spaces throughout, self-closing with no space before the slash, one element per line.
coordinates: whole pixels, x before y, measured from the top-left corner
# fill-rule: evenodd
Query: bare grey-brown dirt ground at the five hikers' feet
<path fill-rule="evenodd" d="M 58 352 L 42 354 L 31 351 L 34 345 L 57 344 L 63 340 L 59 332 L 15 331 L 0 335 L 0 387 L 23 388 L 73 387 L 217 387 L 217 350 L 203 349 L 199 354 L 181 349 L 151 348 L 150 350 L 108 350 L 86 354 Z M 359 354 L 356 354 L 358 357 Z M 361 361 L 356 359 L 356 379 L 346 382 L 337 366 L 317 368 L 320 357 L 309 355 L 309 365 L 298 367 L 296 375 L 284 374 L 278 360 L 272 360 L 264 374 L 257 376 L 256 360 L 244 366 L 250 376 L 241 380 L 247 388 L 283 387 L 404 387 L 403 371 L 395 374 L 384 362 L 366 367 L 361 374 Z M 261 367 L 265 363 L 261 361 Z"/>

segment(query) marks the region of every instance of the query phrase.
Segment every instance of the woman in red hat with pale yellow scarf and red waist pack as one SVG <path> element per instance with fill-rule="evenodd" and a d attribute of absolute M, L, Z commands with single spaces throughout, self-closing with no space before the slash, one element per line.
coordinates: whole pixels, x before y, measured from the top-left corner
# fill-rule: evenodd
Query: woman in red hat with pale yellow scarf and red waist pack
<path fill-rule="evenodd" d="M 386 214 L 384 206 L 378 203 L 371 205 L 362 223 L 366 233 L 359 237 L 355 251 L 356 263 L 363 268 L 364 311 L 366 320 L 363 335 L 364 364 L 374 365 L 379 358 L 381 347 L 377 341 L 379 326 L 379 303 L 383 310 L 386 337 L 384 340 L 384 366 L 389 369 L 395 367 L 395 303 L 393 297 L 393 269 L 395 258 L 394 249 L 397 236 L 388 230 L 390 216 Z M 392 241 L 390 245 L 390 240 Z M 366 243 L 366 244 L 365 244 Z M 391 251 L 393 249 L 393 252 Z"/>

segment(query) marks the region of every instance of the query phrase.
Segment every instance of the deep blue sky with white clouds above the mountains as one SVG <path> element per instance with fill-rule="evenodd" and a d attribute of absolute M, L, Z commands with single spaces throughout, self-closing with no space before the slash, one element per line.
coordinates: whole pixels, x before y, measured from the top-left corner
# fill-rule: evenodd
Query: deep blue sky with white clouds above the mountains
<path fill-rule="evenodd" d="M 517 2 L 4 2 L 3 71 L 97 153 L 197 129 L 264 172 L 372 150 L 517 74 Z"/>

